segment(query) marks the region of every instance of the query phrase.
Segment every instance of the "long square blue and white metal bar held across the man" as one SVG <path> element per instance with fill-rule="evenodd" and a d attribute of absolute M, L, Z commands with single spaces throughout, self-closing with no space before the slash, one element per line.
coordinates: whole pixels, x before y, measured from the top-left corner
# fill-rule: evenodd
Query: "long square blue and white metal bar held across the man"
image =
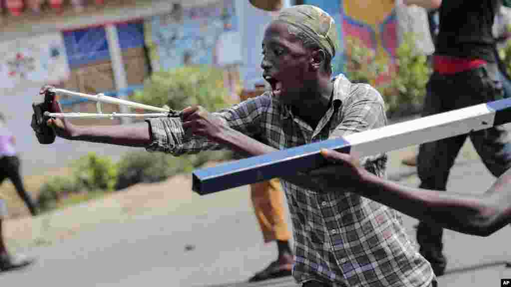
<path fill-rule="evenodd" d="M 308 145 L 220 164 L 193 172 L 193 190 L 211 194 L 221 190 L 295 175 L 326 165 L 321 149 L 350 152 L 356 157 L 398 150 L 429 141 L 487 129 L 511 122 L 511 99 L 393 124 Z"/>

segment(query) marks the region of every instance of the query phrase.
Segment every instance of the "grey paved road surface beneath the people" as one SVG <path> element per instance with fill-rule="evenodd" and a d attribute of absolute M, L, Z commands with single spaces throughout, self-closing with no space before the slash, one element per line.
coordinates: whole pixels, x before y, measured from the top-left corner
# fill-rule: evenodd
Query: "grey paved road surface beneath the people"
<path fill-rule="evenodd" d="M 416 185 L 413 169 L 399 165 L 399 157 L 393 158 L 397 159 L 390 162 L 391 177 Z M 449 189 L 484 190 L 492 182 L 493 177 L 469 149 L 461 153 Z M 405 217 L 412 238 L 415 223 Z M 485 238 L 446 231 L 448 274 L 439 278 L 439 286 L 500 286 L 501 278 L 511 278 L 511 268 L 503 264 L 511 260 L 510 238 L 511 228 Z M 0 286 L 225 284 L 245 280 L 276 256 L 274 245 L 262 244 L 246 186 L 172 202 L 163 211 L 107 221 L 79 236 L 25 249 L 39 258 L 37 264 L 0 274 Z M 272 286 L 291 285 L 290 278 L 272 282 Z"/>

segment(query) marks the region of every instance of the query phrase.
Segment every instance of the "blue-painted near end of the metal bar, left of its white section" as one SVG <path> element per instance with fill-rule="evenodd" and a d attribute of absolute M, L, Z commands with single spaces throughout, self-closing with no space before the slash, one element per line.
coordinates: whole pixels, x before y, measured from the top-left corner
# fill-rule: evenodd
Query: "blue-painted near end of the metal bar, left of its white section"
<path fill-rule="evenodd" d="M 321 149 L 348 153 L 351 145 L 344 138 L 328 139 L 196 170 L 193 172 L 192 189 L 204 195 L 275 177 L 295 175 L 298 171 L 311 171 L 326 164 L 326 160 L 319 154 Z"/>

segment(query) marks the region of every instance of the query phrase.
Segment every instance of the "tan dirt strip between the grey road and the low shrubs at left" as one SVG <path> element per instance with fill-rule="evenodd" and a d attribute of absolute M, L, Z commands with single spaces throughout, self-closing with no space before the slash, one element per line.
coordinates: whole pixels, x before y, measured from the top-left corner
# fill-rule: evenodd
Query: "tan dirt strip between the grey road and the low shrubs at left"
<path fill-rule="evenodd" d="M 206 166 L 215 164 L 218 163 Z M 168 214 L 181 203 L 198 197 L 192 191 L 191 174 L 176 175 L 162 182 L 139 183 L 35 218 L 11 218 L 5 223 L 5 236 L 8 246 L 13 248 L 53 244 L 98 224 L 122 223 L 144 214 Z"/>

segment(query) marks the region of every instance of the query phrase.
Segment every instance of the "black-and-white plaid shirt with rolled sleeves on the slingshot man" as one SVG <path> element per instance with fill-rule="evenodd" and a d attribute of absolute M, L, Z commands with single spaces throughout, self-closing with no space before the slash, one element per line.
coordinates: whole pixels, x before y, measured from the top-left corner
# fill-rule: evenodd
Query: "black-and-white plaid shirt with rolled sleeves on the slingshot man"
<path fill-rule="evenodd" d="M 316 129 L 265 92 L 215 115 L 231 128 L 277 149 L 346 136 L 386 125 L 383 99 L 367 84 L 334 79 L 333 105 Z M 222 146 L 185 135 L 179 118 L 149 119 L 149 151 L 181 155 Z M 363 166 L 385 176 L 386 155 L 366 157 Z M 397 211 L 350 192 L 309 190 L 281 180 L 291 213 L 298 283 L 309 280 L 333 286 L 428 286 L 433 271 L 408 240 Z"/>

